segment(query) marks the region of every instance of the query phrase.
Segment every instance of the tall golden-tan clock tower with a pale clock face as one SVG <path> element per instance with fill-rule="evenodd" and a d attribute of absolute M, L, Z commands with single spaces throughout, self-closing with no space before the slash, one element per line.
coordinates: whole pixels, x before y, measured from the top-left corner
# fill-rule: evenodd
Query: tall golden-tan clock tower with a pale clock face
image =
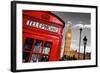
<path fill-rule="evenodd" d="M 71 36 L 72 36 L 72 23 L 68 22 L 67 32 L 65 35 L 65 46 L 64 46 L 64 55 L 67 56 L 67 53 L 70 51 L 71 46 Z"/>

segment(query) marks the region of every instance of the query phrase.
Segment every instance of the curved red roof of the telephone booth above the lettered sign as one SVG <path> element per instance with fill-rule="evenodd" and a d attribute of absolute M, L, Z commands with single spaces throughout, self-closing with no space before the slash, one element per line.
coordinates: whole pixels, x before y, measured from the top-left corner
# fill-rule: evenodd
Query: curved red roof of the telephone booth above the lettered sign
<path fill-rule="evenodd" d="M 23 10 L 23 15 L 54 23 L 58 26 L 65 26 L 64 21 L 50 11 Z"/>

